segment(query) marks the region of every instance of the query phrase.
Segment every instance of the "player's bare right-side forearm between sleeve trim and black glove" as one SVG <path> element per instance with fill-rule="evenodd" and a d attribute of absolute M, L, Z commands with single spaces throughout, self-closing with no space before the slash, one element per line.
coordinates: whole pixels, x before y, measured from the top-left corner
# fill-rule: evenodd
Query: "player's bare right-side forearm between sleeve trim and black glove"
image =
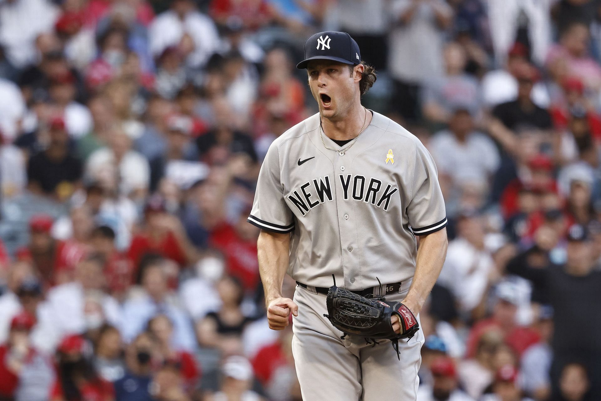
<path fill-rule="evenodd" d="M 447 257 L 447 229 L 419 237 L 419 249 L 415 262 L 415 274 L 403 303 L 418 314 L 441 274 Z"/>

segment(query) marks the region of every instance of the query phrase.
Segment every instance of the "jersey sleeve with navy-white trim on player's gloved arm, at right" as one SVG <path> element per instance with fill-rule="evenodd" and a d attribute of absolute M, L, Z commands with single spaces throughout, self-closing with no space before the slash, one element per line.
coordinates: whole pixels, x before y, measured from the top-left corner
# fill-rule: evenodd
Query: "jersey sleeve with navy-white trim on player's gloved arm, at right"
<path fill-rule="evenodd" d="M 432 234 L 447 225 L 445 200 L 432 155 L 421 142 L 416 144 L 415 168 L 407 206 L 409 225 L 415 235 Z"/>

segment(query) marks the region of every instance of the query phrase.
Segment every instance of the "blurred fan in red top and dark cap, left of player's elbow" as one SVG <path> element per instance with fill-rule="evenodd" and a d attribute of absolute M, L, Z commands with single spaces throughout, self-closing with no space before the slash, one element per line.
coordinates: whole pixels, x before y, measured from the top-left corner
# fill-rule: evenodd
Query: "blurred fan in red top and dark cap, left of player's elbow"
<path fill-rule="evenodd" d="M 144 209 L 145 225 L 133 237 L 127 256 L 136 269 L 145 254 L 159 254 L 177 263 L 180 268 L 197 260 L 197 250 L 189 242 L 182 223 L 166 212 L 160 195 L 150 197 Z"/>

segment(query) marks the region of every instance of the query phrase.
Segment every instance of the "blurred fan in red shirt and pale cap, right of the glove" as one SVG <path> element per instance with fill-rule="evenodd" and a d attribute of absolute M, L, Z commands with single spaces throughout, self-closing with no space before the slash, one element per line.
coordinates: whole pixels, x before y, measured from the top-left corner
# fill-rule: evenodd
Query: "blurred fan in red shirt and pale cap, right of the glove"
<path fill-rule="evenodd" d="M 529 346 L 540 340 L 540 335 L 533 329 L 517 325 L 518 303 L 516 289 L 510 283 L 503 283 L 497 287 L 492 316 L 476 323 L 469 332 L 466 344 L 467 358 L 474 358 L 480 337 L 491 330 L 500 330 L 505 343 L 518 356 L 521 356 Z"/>

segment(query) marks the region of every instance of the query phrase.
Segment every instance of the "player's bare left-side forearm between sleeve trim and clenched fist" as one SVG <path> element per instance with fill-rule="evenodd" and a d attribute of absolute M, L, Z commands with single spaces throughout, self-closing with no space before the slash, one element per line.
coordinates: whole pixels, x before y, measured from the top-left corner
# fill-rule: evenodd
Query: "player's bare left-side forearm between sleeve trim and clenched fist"
<path fill-rule="evenodd" d="M 261 231 L 257 241 L 257 256 L 267 303 L 282 296 L 282 283 L 288 269 L 289 255 L 290 234 Z"/>

